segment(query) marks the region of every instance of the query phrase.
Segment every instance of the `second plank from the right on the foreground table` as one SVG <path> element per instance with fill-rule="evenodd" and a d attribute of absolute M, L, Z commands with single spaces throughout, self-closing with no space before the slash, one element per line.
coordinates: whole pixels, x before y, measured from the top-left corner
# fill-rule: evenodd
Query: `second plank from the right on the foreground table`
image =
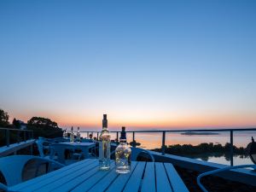
<path fill-rule="evenodd" d="M 163 163 L 155 163 L 156 190 L 158 192 L 172 192 L 171 184 L 166 175 Z"/>

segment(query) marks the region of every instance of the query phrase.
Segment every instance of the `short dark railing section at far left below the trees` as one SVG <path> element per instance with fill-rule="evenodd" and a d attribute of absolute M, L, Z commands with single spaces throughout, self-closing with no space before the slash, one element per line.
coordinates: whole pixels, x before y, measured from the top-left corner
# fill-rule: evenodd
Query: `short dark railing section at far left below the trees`
<path fill-rule="evenodd" d="M 11 134 L 14 133 L 14 134 Z M 11 129 L 11 128 L 2 128 L 0 127 L 0 134 L 3 137 L 1 138 L 1 145 L 4 143 L 9 147 L 11 139 L 15 141 L 15 143 L 20 143 L 21 141 L 26 142 L 29 139 L 33 138 L 32 130 L 20 130 L 20 129 Z M 5 141 L 4 141 L 5 140 Z"/>

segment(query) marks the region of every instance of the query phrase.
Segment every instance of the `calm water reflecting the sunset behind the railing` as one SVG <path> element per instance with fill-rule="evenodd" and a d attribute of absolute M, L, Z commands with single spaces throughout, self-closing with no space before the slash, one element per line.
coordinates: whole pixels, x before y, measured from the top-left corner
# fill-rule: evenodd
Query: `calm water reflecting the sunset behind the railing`
<path fill-rule="evenodd" d="M 180 133 L 166 133 L 166 145 L 173 144 L 192 144 L 197 145 L 200 143 L 230 143 L 230 132 L 218 132 L 219 135 L 181 135 Z M 251 137 L 256 139 L 256 131 L 235 131 L 234 145 L 236 147 L 247 147 L 247 144 L 251 142 Z M 87 134 L 83 134 L 87 137 Z M 96 137 L 96 135 L 94 135 Z M 112 133 L 111 139 L 114 140 L 116 134 Z M 162 144 L 162 133 L 135 133 L 135 140 L 137 143 L 141 143 L 140 148 L 153 149 L 161 148 Z M 127 133 L 127 142 L 132 141 L 132 133 Z M 224 165 L 230 165 L 230 158 L 220 156 L 218 154 L 202 154 L 201 156 L 194 156 L 198 160 L 207 160 L 209 162 L 220 163 Z M 234 165 L 252 164 L 253 162 L 249 157 L 245 156 L 234 156 Z"/>

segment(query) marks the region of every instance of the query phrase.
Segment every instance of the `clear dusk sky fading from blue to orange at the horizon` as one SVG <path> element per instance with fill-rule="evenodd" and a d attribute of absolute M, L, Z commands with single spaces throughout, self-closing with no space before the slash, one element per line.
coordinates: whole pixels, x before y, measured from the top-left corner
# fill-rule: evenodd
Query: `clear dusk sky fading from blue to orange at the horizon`
<path fill-rule="evenodd" d="M 256 126 L 255 1 L 0 1 L 0 108 L 109 129 Z"/>

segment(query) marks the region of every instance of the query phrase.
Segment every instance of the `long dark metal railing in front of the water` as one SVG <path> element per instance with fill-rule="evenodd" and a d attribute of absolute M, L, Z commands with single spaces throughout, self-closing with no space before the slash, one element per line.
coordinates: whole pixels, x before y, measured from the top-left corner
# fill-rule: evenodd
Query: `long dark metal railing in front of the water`
<path fill-rule="evenodd" d="M 230 166 L 234 165 L 233 155 L 234 155 L 234 144 L 233 144 L 233 133 L 236 131 L 256 131 L 256 128 L 246 128 L 246 129 L 207 129 L 207 130 L 164 130 L 164 131 L 126 131 L 128 133 L 132 133 L 132 141 L 135 144 L 135 134 L 136 133 L 162 133 L 162 154 L 166 154 L 166 133 L 168 132 L 229 132 L 230 133 Z M 96 133 L 97 139 L 99 138 L 100 131 L 81 131 L 87 133 L 89 136 L 90 133 Z M 116 133 L 116 141 L 119 140 L 119 132 L 120 131 L 110 131 L 112 133 Z M 136 147 L 135 145 L 133 147 Z"/>

